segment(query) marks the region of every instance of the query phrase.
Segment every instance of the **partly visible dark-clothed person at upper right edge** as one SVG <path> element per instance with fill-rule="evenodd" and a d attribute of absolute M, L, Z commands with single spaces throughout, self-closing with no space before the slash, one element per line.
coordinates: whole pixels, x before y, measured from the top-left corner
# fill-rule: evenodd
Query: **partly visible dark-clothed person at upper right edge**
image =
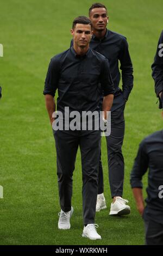
<path fill-rule="evenodd" d="M 152 76 L 155 81 L 155 93 L 159 97 L 160 102 L 159 108 L 163 108 L 163 31 L 158 42 L 152 70 Z"/>

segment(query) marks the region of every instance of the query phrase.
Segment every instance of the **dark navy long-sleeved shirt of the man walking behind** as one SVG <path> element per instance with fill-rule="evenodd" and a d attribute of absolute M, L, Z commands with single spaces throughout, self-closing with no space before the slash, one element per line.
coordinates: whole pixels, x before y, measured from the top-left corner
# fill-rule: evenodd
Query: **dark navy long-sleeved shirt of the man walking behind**
<path fill-rule="evenodd" d="M 73 45 L 73 40 L 71 41 L 71 45 Z M 111 108 L 111 111 L 114 111 L 124 105 L 125 100 L 128 100 L 131 89 L 133 88 L 133 65 L 127 40 L 123 35 L 106 29 L 103 39 L 98 39 L 95 35 L 92 35 L 90 47 L 103 54 L 109 60 L 110 73 L 115 87 L 115 97 Z M 120 69 L 122 70 L 123 93 L 119 87 L 121 80 L 121 74 L 118 68 L 119 61 L 121 64 Z"/>

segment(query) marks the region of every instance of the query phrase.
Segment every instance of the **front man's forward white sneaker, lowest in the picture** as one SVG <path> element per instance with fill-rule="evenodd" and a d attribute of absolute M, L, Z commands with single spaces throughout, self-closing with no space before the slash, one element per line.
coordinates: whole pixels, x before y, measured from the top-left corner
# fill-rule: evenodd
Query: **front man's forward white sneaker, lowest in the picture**
<path fill-rule="evenodd" d="M 101 235 L 97 233 L 96 228 L 98 228 L 97 224 L 87 224 L 83 229 L 82 236 L 91 240 L 101 239 Z"/>

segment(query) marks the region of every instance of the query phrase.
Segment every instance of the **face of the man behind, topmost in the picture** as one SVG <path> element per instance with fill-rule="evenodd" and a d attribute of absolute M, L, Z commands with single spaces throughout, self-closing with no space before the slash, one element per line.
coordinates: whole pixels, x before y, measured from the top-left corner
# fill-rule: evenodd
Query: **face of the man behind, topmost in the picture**
<path fill-rule="evenodd" d="M 91 10 L 90 19 L 93 31 L 103 31 L 108 22 L 108 14 L 105 8 L 94 8 Z"/>

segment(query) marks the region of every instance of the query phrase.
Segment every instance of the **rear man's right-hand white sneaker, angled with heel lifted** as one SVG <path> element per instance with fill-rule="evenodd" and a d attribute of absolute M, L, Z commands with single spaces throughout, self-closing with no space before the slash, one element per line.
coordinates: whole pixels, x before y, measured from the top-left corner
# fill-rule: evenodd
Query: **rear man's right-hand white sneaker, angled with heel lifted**
<path fill-rule="evenodd" d="M 127 215 L 130 214 L 130 206 L 126 205 L 128 200 L 122 197 L 116 197 L 114 203 L 111 203 L 110 214 L 109 215 Z"/>

